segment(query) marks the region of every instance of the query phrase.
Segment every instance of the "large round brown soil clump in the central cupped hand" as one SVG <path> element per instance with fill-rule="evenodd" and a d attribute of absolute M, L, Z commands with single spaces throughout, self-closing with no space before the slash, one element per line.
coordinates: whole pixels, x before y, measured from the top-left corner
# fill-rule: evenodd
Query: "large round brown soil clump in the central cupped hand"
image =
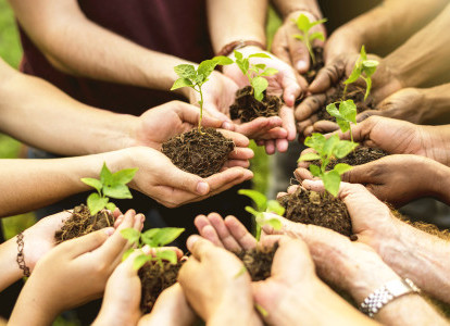
<path fill-rule="evenodd" d="M 235 149 L 233 140 L 213 128 L 197 128 L 175 136 L 162 145 L 162 152 L 183 171 L 209 177 L 224 166 Z"/>

